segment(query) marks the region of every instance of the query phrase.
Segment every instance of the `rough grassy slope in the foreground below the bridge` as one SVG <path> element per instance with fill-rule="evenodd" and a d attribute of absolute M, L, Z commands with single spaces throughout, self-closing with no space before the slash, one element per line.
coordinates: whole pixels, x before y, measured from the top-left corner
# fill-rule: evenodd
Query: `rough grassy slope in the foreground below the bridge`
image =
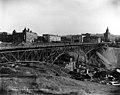
<path fill-rule="evenodd" d="M 58 70 L 55 65 L 50 68 L 46 63 L 38 64 L 34 68 L 2 67 L 0 95 L 115 95 L 114 91 L 119 91 L 114 86 L 71 79 L 66 70 Z"/>

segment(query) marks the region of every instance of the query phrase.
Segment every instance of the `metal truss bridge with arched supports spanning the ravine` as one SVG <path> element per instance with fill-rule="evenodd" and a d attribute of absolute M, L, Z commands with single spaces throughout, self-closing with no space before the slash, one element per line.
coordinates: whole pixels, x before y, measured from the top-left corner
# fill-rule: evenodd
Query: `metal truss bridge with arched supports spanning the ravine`
<path fill-rule="evenodd" d="M 79 44 L 40 44 L 30 46 L 7 46 L 0 48 L 0 65 L 11 63 L 50 62 L 68 51 L 77 49 L 85 53 L 105 43 L 79 43 Z"/>

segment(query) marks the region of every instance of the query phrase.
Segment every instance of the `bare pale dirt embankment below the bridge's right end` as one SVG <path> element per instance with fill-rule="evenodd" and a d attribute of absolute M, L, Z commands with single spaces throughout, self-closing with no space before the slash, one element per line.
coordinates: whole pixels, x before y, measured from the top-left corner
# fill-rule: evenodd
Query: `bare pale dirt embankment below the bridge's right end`
<path fill-rule="evenodd" d="M 120 68 L 120 48 L 102 46 L 87 54 L 88 64 L 113 70 Z"/>

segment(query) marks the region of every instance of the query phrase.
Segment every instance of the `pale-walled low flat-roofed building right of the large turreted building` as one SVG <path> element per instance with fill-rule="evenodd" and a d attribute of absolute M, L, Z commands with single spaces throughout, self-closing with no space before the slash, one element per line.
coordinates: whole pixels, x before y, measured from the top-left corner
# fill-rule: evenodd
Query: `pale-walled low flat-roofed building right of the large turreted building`
<path fill-rule="evenodd" d="M 45 39 L 45 42 L 60 42 L 61 41 L 61 37 L 58 35 L 43 34 L 43 37 Z"/>

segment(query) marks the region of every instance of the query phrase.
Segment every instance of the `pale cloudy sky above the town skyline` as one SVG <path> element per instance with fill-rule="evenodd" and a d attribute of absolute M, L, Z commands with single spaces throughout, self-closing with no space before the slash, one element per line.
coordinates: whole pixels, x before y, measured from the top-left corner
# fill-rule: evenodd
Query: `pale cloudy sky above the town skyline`
<path fill-rule="evenodd" d="M 120 0 L 0 0 L 0 31 L 120 35 Z"/>

